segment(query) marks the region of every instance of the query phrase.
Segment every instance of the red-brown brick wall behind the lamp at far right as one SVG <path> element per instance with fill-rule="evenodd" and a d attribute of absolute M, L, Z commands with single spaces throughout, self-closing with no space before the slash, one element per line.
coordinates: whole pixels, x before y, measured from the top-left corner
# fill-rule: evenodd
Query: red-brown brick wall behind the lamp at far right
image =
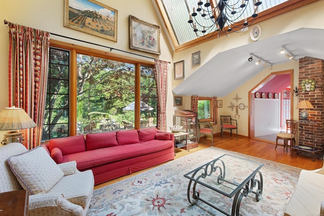
<path fill-rule="evenodd" d="M 316 81 L 315 91 L 302 92 L 301 81 L 309 78 Z M 319 150 L 316 152 L 316 157 L 321 157 L 324 154 L 324 60 L 310 57 L 299 59 L 298 82 L 299 101 L 305 99 L 313 105 L 314 109 L 308 111 L 310 115 L 308 119 L 317 122 L 317 124 L 299 124 L 299 145 L 312 146 L 314 142 L 315 148 Z M 299 110 L 299 116 L 300 112 L 301 110 Z"/>

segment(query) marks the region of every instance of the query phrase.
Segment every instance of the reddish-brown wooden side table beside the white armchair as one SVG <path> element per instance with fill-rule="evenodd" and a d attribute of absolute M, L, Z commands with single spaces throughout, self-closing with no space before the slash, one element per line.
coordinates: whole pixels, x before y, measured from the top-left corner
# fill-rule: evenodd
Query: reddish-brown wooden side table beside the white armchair
<path fill-rule="evenodd" d="M 25 190 L 0 193 L 0 216 L 28 215 L 28 193 Z"/>

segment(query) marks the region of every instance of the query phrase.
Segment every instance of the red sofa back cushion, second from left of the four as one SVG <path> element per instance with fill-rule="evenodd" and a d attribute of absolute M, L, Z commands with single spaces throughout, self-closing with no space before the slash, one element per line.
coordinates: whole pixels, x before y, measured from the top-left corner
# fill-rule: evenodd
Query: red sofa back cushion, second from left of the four
<path fill-rule="evenodd" d="M 86 136 L 87 151 L 111 146 L 118 146 L 116 132 L 87 134 Z"/>

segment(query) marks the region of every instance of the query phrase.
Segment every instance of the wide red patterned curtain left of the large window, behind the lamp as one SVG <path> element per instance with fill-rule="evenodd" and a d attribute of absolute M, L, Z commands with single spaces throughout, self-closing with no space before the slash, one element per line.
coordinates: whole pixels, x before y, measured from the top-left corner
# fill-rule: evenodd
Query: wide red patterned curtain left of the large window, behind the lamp
<path fill-rule="evenodd" d="M 24 130 L 24 145 L 41 144 L 46 103 L 50 33 L 18 24 L 9 26 L 9 106 L 23 108 L 37 124 Z"/>

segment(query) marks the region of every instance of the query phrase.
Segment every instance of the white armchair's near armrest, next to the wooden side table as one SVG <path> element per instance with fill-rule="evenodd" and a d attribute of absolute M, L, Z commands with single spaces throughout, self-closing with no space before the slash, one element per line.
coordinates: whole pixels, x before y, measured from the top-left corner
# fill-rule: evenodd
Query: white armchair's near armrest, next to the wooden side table
<path fill-rule="evenodd" d="M 30 195 L 28 201 L 29 215 L 83 215 L 83 208 L 64 199 L 62 194 Z"/>

